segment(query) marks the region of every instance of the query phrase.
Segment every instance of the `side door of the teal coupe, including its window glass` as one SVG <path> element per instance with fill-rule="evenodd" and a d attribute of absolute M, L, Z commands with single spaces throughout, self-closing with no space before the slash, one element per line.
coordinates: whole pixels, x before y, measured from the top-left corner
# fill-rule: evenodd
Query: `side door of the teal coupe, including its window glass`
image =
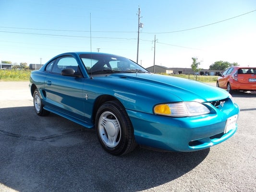
<path fill-rule="evenodd" d="M 65 115 L 84 119 L 84 98 L 82 77 L 61 75 L 63 69 L 79 71 L 78 63 L 72 56 L 57 58 L 46 66 L 49 73 L 45 79 L 45 95 L 48 106 Z"/>

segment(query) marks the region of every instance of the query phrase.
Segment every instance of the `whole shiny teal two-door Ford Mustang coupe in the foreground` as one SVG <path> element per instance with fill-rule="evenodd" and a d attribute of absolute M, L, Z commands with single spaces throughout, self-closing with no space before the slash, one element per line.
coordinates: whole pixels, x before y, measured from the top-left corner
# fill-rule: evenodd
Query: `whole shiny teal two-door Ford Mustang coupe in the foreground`
<path fill-rule="evenodd" d="M 139 145 L 170 151 L 206 149 L 237 130 L 239 107 L 220 88 L 152 74 L 110 54 L 71 52 L 31 72 L 39 116 L 50 112 L 88 129 L 120 156 Z"/>

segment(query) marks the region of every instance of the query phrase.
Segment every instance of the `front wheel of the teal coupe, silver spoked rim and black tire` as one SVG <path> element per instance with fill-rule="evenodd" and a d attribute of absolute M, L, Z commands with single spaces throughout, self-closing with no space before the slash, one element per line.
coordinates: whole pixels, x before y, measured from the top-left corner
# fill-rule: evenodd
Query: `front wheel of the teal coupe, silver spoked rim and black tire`
<path fill-rule="evenodd" d="M 102 104 L 95 122 L 99 143 L 108 153 L 121 156 L 136 147 L 131 120 L 119 101 Z"/>

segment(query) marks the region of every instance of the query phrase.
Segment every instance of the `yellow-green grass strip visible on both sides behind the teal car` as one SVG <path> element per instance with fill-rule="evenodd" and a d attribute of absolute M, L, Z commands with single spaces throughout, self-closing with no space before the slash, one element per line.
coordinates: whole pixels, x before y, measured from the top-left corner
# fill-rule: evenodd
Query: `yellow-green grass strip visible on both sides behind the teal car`
<path fill-rule="evenodd" d="M 0 70 L 0 81 L 29 81 L 30 70 Z M 181 77 L 185 79 L 196 80 L 199 82 L 217 82 L 218 76 L 200 76 L 186 74 L 167 74 L 163 75 Z"/>

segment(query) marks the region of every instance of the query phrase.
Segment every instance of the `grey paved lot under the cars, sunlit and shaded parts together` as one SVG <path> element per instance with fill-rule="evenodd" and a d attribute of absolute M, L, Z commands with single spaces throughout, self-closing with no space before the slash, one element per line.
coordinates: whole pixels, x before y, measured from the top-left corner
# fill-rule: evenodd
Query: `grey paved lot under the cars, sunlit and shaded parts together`
<path fill-rule="evenodd" d="M 233 98 L 241 112 L 228 141 L 192 153 L 137 148 L 116 157 L 94 131 L 37 116 L 28 82 L 0 82 L 0 192 L 256 192 L 256 93 Z"/>

